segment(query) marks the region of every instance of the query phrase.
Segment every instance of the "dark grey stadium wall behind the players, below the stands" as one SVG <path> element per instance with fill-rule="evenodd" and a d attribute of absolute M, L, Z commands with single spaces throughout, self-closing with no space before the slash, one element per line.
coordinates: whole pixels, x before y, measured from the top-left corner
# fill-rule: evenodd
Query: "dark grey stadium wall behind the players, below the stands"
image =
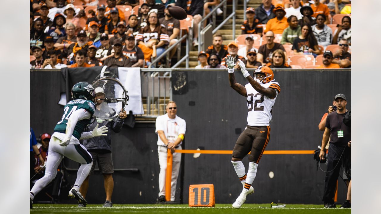
<path fill-rule="evenodd" d="M 235 74 L 237 82 L 247 83 L 240 72 Z M 176 83 L 184 87 L 173 91 L 178 116 L 187 122 L 183 147 L 232 150 L 247 125 L 245 97 L 229 87 L 225 71 L 173 72 L 173 78 L 178 75 L 185 77 L 184 82 Z M 350 71 L 278 71 L 275 79 L 280 83 L 281 93 L 272 111 L 271 137 L 266 150 L 315 150 L 322 139 L 317 125 L 335 94 L 345 94 L 347 109 L 351 109 Z M 57 102 L 64 83 L 61 72 L 30 72 L 30 126 L 37 137 L 42 132 L 52 133 L 61 117 L 63 106 Z M 159 173 L 154 123 L 136 123 L 134 128 L 123 126 L 121 133 L 112 133 L 112 139 L 115 169 L 138 169 L 138 172 L 115 171 L 113 203 L 154 203 L 158 197 Z M 241 192 L 231 155 L 201 154 L 193 158 L 192 154 L 183 154 L 183 160 L 176 200 L 188 202 L 190 184 L 214 184 L 216 203 L 233 203 Z M 247 157 L 243 162 L 247 170 Z M 68 168 L 78 168 L 77 163 L 67 158 L 63 163 Z M 322 168 L 326 169 L 324 165 Z M 253 183 L 255 193 L 247 197 L 246 203 L 320 204 L 325 173 L 316 169 L 312 154 L 263 155 Z M 270 171 L 274 172 L 272 179 Z M 61 190 L 62 199 L 66 199 L 66 191 L 75 177 L 76 171 L 66 171 L 65 178 L 70 185 Z M 340 179 L 338 189 L 338 199 L 343 202 L 346 186 Z M 87 200 L 103 203 L 105 198 L 103 179 L 96 171 L 90 177 Z"/>

